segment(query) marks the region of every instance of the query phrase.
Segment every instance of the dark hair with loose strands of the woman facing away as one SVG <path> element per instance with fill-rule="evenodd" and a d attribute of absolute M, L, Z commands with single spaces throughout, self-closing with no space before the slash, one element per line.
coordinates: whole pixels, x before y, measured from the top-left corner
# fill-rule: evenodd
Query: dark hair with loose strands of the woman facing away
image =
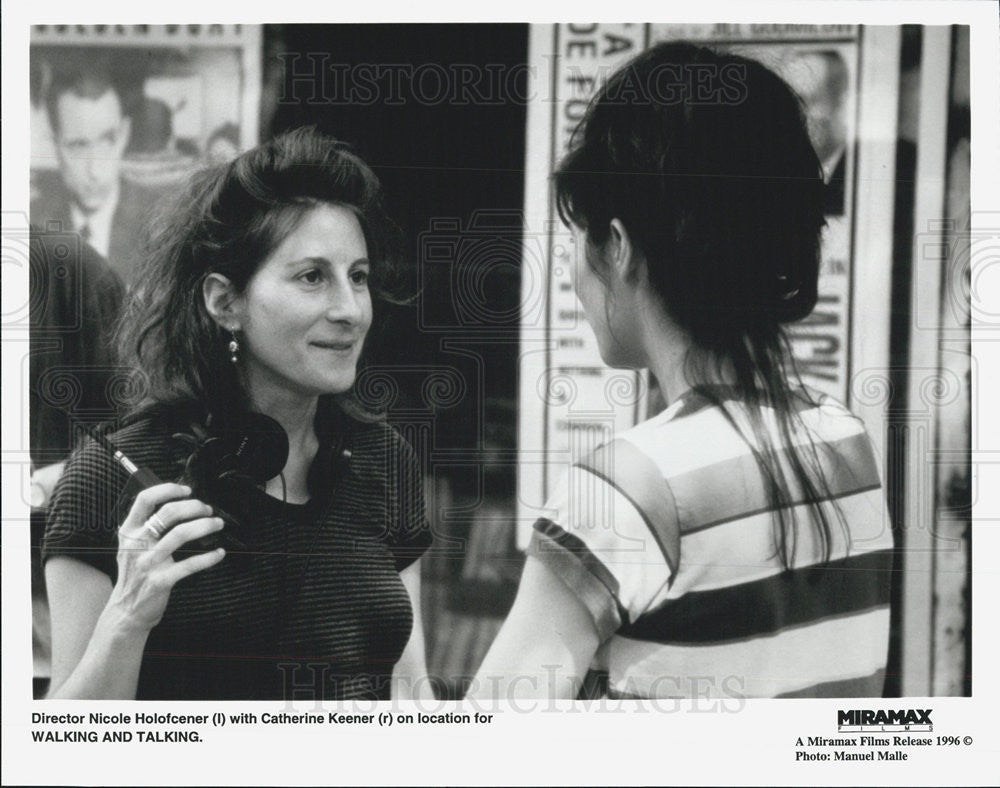
<path fill-rule="evenodd" d="M 789 383 L 795 373 L 782 330 L 816 305 L 825 221 L 822 170 L 798 97 L 753 60 L 660 44 L 594 97 L 554 186 L 563 221 L 586 230 L 587 259 L 599 275 L 606 272 L 593 252 L 607 241 L 611 220 L 622 222 L 645 256 L 651 286 L 691 339 L 688 379 L 734 373 L 752 436 L 712 387 L 696 390 L 750 445 L 777 512 L 785 568 L 796 536 L 788 506 L 800 497 L 828 560 L 830 523 L 819 501 L 829 489 L 815 443 L 795 448 L 792 436 L 804 428 L 797 411 L 808 395 Z M 782 446 L 765 429 L 764 407 L 777 414 Z M 843 528 L 839 510 L 838 518 Z"/>

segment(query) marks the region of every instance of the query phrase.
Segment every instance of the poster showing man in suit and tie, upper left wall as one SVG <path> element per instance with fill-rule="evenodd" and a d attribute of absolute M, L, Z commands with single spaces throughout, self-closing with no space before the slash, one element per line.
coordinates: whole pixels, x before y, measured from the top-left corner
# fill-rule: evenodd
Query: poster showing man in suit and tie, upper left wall
<path fill-rule="evenodd" d="M 72 231 L 128 283 L 144 211 L 257 143 L 259 25 L 35 25 L 31 223 Z"/>

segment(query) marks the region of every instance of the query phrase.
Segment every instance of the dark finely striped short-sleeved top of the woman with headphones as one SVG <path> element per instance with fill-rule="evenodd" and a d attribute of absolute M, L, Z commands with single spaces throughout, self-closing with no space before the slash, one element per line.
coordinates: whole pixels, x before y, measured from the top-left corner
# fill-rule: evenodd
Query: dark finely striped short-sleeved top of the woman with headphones
<path fill-rule="evenodd" d="M 143 419 L 109 437 L 174 479 L 190 453 L 173 437 L 178 426 Z M 247 485 L 242 507 L 229 509 L 247 549 L 174 586 L 146 641 L 138 699 L 389 697 L 413 622 L 399 572 L 430 543 L 423 477 L 388 425 L 355 423 L 352 435 L 339 481 L 332 466 L 323 474 L 332 499 L 287 504 Z M 56 488 L 43 559 L 69 556 L 115 582 L 126 482 L 87 440 Z"/>

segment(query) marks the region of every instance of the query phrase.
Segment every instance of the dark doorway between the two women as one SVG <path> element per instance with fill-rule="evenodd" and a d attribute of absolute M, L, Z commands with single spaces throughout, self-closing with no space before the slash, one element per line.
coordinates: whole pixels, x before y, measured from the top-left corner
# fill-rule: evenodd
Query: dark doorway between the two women
<path fill-rule="evenodd" d="M 461 694 L 516 590 L 527 25 L 265 28 L 261 135 L 314 124 L 376 171 L 408 306 L 379 327 L 374 396 L 427 474 L 429 666 Z M 359 388 L 365 385 L 359 377 Z"/>

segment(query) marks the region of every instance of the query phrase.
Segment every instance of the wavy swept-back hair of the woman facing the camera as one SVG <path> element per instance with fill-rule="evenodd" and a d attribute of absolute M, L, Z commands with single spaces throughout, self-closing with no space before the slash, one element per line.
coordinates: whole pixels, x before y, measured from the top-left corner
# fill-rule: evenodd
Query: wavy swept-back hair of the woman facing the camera
<path fill-rule="evenodd" d="M 348 145 L 314 128 L 281 134 L 196 173 L 154 224 L 118 327 L 119 358 L 132 368 L 133 415 L 185 403 L 225 426 L 249 409 L 229 358 L 230 337 L 208 314 L 202 285 L 219 273 L 242 291 L 321 203 L 345 206 L 358 218 L 378 325 L 379 302 L 395 301 L 399 248 L 378 178 Z M 337 401 L 352 416 L 371 416 L 351 393 Z"/>

